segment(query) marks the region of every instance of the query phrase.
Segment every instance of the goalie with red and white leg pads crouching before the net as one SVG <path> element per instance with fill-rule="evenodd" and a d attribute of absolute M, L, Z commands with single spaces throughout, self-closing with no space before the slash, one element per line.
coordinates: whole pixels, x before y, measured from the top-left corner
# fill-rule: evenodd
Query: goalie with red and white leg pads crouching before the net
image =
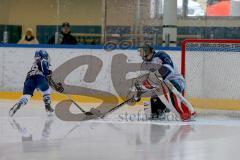
<path fill-rule="evenodd" d="M 147 79 L 143 81 L 143 86 L 147 90 L 156 90 L 152 92 L 150 98 L 152 116 L 159 117 L 160 114 L 171 109 L 179 114 L 183 121 L 190 120 L 196 112 L 192 105 L 181 95 L 181 92 L 185 89 L 185 81 L 170 56 L 163 51 L 156 52 L 147 44 L 139 48 L 139 54 L 143 59 L 143 68 L 141 70 L 150 71 Z M 161 100 L 157 92 L 159 89 L 162 90 L 163 97 L 165 97 L 168 104 Z"/>

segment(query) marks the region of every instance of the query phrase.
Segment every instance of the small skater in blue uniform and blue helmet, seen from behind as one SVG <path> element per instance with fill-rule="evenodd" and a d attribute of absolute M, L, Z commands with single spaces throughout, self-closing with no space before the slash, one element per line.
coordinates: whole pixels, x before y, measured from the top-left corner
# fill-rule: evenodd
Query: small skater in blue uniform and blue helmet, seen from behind
<path fill-rule="evenodd" d="M 12 117 L 21 106 L 28 103 L 33 96 L 35 89 L 39 89 L 43 96 L 43 102 L 47 112 L 54 112 L 51 107 L 51 89 L 49 87 L 49 80 L 52 81 L 52 71 L 49 69 L 50 57 L 45 50 L 37 50 L 34 56 L 34 63 L 31 70 L 27 73 L 27 77 L 24 82 L 23 95 L 19 101 L 10 109 L 9 115 Z M 57 87 L 53 88 L 58 92 L 63 92 L 61 83 L 57 83 Z M 50 83 L 51 85 L 51 83 Z"/>

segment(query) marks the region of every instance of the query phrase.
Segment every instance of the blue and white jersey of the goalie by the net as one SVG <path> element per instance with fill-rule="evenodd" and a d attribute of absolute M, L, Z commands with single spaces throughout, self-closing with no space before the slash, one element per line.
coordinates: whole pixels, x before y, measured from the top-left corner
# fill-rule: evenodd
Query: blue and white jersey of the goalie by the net
<path fill-rule="evenodd" d="M 183 76 L 179 73 L 178 68 L 173 63 L 171 57 L 164 51 L 159 51 L 153 53 L 153 58 L 150 62 L 154 66 L 154 70 L 159 70 L 161 67 L 165 67 L 168 71 L 167 74 L 162 75 L 164 80 L 181 80 L 184 81 Z"/>

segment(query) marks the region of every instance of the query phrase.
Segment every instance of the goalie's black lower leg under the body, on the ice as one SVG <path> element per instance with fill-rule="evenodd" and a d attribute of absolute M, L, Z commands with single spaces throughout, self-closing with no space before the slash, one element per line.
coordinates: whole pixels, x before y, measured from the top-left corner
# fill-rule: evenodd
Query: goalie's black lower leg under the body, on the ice
<path fill-rule="evenodd" d="M 166 109 L 166 105 L 161 101 L 161 99 L 158 96 L 151 97 L 150 101 L 152 114 L 158 115 L 162 113 L 164 109 Z"/>

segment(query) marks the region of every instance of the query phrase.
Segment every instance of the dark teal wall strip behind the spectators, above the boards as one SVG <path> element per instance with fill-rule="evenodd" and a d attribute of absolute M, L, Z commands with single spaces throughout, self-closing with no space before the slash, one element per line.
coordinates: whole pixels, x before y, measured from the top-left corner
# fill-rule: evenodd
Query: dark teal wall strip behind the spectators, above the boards
<path fill-rule="evenodd" d="M 55 25 L 37 25 L 36 36 L 40 44 L 47 44 L 48 39 L 54 35 L 60 26 Z M 0 42 L 3 42 L 3 32 L 7 30 L 9 43 L 17 43 L 22 36 L 21 25 L 0 25 Z M 79 44 L 101 44 L 101 26 L 99 25 L 72 25 L 72 34 L 77 38 Z M 107 41 L 119 42 L 122 40 L 134 41 L 137 37 L 132 34 L 131 26 L 107 26 Z M 162 44 L 161 26 L 143 26 L 139 37 L 155 45 Z M 178 46 L 186 38 L 205 38 L 205 39 L 240 39 L 240 27 L 178 27 Z"/>

